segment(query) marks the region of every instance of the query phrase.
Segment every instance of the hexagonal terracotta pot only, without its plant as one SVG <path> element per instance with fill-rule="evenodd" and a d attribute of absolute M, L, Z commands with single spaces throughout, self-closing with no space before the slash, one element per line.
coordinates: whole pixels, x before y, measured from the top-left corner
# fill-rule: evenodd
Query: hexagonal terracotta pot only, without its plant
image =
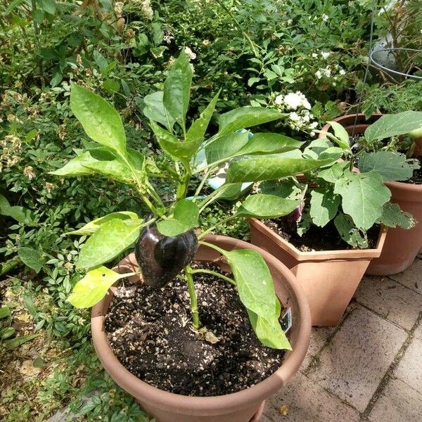
<path fill-rule="evenodd" d="M 293 271 L 305 291 L 313 326 L 340 322 L 369 262 L 380 256 L 386 231 L 381 230 L 376 249 L 302 252 L 260 220 L 250 219 L 250 241 Z"/>

